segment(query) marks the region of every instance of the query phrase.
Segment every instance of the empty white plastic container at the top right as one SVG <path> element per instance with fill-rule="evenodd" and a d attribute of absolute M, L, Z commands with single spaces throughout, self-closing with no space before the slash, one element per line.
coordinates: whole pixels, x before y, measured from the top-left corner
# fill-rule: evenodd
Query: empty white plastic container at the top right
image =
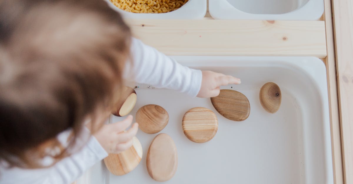
<path fill-rule="evenodd" d="M 209 0 L 215 19 L 318 20 L 323 0 Z"/>

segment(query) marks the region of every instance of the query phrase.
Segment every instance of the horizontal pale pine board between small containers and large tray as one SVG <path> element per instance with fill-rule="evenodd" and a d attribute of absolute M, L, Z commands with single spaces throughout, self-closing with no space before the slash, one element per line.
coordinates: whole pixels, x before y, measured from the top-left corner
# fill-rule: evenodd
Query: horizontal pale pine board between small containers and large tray
<path fill-rule="evenodd" d="M 323 21 L 128 19 L 133 36 L 167 55 L 326 57 Z"/>

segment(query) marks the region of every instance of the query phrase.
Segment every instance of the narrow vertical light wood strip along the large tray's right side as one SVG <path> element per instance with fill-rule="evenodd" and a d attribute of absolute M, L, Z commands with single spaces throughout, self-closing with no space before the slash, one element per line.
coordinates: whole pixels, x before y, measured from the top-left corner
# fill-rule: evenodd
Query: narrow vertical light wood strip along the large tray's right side
<path fill-rule="evenodd" d="M 325 12 L 322 19 L 325 20 L 327 57 L 323 60 L 327 71 L 327 86 L 329 94 L 331 146 L 335 184 L 343 184 L 341 128 L 337 96 L 336 60 L 333 34 L 333 17 L 331 0 L 324 0 Z"/>

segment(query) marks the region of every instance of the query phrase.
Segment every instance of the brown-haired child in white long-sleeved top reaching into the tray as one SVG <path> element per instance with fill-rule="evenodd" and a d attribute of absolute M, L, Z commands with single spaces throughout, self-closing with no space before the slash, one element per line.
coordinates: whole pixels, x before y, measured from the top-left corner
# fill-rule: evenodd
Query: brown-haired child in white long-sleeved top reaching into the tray
<path fill-rule="evenodd" d="M 240 84 L 132 38 L 102 0 L 0 0 L 0 183 L 71 183 L 128 149 L 132 116 L 104 125 L 126 79 L 192 97 Z"/>

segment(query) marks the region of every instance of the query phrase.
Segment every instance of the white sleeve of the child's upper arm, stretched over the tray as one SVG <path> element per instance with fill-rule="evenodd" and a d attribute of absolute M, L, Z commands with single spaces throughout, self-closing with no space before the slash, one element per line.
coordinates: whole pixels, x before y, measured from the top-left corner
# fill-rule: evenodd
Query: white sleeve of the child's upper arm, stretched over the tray
<path fill-rule="evenodd" d="M 197 96 L 201 88 L 201 70 L 182 66 L 136 38 L 132 38 L 131 53 L 133 61 L 127 62 L 125 78 Z"/>

